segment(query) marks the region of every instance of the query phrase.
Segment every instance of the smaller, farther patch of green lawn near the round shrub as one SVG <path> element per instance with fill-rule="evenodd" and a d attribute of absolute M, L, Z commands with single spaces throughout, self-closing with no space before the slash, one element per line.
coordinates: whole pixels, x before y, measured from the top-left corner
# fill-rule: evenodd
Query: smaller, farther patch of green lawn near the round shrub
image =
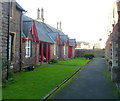
<path fill-rule="evenodd" d="M 86 63 L 88 63 L 89 61 L 90 60 L 85 59 L 84 57 L 78 57 L 78 58 L 71 59 L 71 60 L 59 61 L 57 64 L 82 66 L 82 65 L 85 65 Z"/>

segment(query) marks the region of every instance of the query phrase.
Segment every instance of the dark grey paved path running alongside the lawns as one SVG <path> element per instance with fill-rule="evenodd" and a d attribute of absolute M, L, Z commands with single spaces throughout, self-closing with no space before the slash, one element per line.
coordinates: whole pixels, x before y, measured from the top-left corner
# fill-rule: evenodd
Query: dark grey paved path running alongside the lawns
<path fill-rule="evenodd" d="M 55 94 L 54 99 L 117 99 L 113 92 L 114 87 L 103 74 L 106 67 L 103 58 L 92 60 Z"/>

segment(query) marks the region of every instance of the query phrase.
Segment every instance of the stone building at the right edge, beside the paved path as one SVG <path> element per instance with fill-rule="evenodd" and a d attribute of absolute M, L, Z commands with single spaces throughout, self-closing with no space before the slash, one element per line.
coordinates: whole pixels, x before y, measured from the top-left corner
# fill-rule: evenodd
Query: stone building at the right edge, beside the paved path
<path fill-rule="evenodd" d="M 109 18 L 105 56 L 112 73 L 112 81 L 120 82 L 120 0 L 115 0 Z"/>

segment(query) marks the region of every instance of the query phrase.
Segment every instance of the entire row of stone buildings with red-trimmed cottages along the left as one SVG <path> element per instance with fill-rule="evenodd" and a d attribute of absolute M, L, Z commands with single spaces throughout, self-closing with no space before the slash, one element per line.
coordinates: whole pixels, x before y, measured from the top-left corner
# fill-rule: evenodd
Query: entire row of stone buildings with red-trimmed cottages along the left
<path fill-rule="evenodd" d="M 75 39 L 70 39 L 61 31 L 61 22 L 57 23 L 57 28 L 44 23 L 43 9 L 41 12 L 38 9 L 37 19 L 34 20 L 24 15 L 26 11 L 17 2 L 0 2 L 0 7 L 3 78 L 8 70 L 18 72 L 44 60 L 74 58 Z"/>

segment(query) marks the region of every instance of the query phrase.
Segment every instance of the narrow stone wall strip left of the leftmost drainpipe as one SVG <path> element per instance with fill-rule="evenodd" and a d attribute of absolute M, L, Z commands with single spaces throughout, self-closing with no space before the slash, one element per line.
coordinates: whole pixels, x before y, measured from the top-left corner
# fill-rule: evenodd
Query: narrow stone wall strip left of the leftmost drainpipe
<path fill-rule="evenodd" d="M 2 36 L 2 37 L 1 37 Z M 7 36 L 8 36 L 8 2 L 2 3 L 2 76 L 6 77 L 7 67 Z"/>

